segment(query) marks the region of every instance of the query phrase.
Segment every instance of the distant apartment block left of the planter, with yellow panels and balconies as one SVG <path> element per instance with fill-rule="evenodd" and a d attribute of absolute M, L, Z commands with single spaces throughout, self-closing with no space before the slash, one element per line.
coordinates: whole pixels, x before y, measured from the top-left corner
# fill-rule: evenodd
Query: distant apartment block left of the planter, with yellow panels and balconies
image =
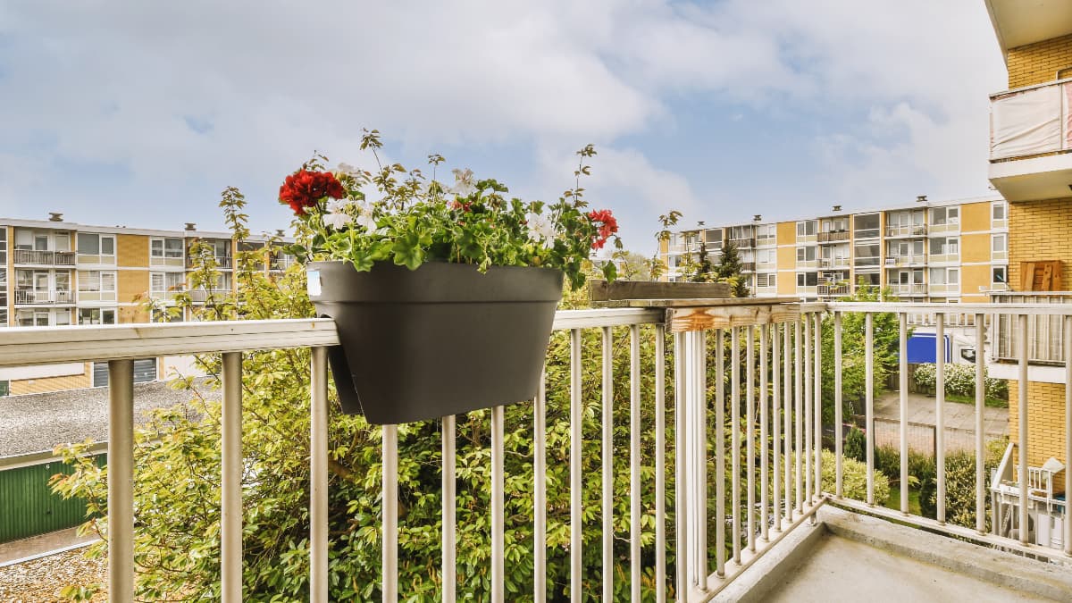
<path fill-rule="evenodd" d="M 190 251 L 208 245 L 220 271 L 211 289 L 191 289 Z M 180 231 L 76 224 L 51 214 L 47 220 L 0 218 L 0 327 L 144 323 L 146 300 L 174 306 L 187 292 L 194 303 L 212 293 L 230 292 L 233 258 L 239 250 L 265 250 L 266 270 L 285 269 L 294 259 L 268 248 L 267 238 L 242 241 L 227 233 L 200 232 L 195 224 Z M 190 317 L 178 317 L 188 320 Z M 176 320 L 176 319 L 170 319 Z M 138 361 L 139 381 L 167 371 L 177 358 Z M 30 394 L 105 385 L 104 363 L 48 365 L 0 371 L 0 395 Z"/>

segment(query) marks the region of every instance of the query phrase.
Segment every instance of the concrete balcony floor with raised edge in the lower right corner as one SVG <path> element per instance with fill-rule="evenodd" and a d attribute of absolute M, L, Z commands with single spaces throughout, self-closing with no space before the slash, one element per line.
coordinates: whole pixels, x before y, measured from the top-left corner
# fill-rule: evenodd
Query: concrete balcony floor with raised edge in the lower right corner
<path fill-rule="evenodd" d="M 1072 568 L 830 505 L 714 601 L 1069 601 Z"/>

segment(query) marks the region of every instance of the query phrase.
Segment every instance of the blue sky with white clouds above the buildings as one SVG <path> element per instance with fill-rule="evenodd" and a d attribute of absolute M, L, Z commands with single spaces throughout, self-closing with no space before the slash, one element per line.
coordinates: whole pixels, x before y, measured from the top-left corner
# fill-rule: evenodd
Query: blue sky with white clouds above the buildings
<path fill-rule="evenodd" d="M 0 3 L 0 217 L 288 227 L 314 151 L 582 185 L 651 254 L 683 225 L 988 194 L 1006 71 L 981 0 Z M 449 174 L 447 179 L 449 179 Z"/>

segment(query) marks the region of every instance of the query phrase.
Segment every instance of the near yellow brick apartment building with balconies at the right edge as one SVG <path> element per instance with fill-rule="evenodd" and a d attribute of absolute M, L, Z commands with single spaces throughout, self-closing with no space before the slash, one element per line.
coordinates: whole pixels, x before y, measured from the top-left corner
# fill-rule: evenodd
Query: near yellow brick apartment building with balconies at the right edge
<path fill-rule="evenodd" d="M 1072 5 L 986 0 L 1009 89 L 991 94 L 989 181 L 1009 202 L 1009 284 L 998 302 L 1070 303 L 1072 295 Z M 985 128 L 987 124 L 980 124 Z M 999 328 L 992 373 L 1011 379 L 1010 432 L 1018 443 L 1021 394 L 1014 325 Z M 1027 455 L 1039 467 L 1066 455 L 1060 320 L 1029 321 Z M 1061 473 L 1061 476 L 1063 473 Z M 1063 479 L 1058 477 L 1060 484 Z"/>

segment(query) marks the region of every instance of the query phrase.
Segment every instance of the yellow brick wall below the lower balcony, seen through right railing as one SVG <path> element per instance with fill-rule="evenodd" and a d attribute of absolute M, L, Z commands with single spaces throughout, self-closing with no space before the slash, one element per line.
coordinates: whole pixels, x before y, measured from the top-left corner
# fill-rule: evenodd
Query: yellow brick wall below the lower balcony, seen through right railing
<path fill-rule="evenodd" d="M 1019 442 L 1019 385 L 1009 380 L 1009 439 Z M 1027 464 L 1042 467 L 1049 457 L 1068 465 L 1064 458 L 1064 384 L 1027 384 Z M 1058 487 L 1059 484 L 1059 487 Z M 1064 472 L 1057 474 L 1054 491 L 1064 491 Z"/>

